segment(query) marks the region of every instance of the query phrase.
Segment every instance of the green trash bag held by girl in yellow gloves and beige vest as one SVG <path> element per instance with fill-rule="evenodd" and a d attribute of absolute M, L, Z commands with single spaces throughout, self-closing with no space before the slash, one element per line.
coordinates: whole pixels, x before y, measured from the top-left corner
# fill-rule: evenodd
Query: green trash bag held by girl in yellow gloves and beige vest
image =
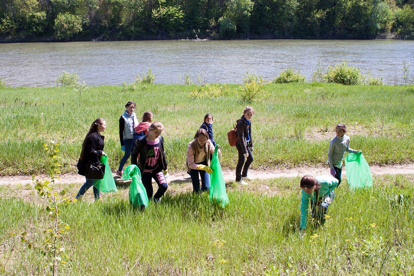
<path fill-rule="evenodd" d="M 210 173 L 210 201 L 217 202 L 221 208 L 224 208 L 229 204 L 229 197 L 226 194 L 226 183 L 224 182 L 223 171 L 221 170 L 219 156 L 217 155 L 218 149 L 217 144 L 210 163 L 210 168 L 213 170 Z"/>

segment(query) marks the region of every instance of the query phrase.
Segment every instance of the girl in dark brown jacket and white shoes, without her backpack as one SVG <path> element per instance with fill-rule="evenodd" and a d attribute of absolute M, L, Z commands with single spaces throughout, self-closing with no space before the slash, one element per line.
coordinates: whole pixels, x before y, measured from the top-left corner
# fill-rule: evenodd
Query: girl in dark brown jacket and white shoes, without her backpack
<path fill-rule="evenodd" d="M 252 180 L 252 178 L 247 176 L 247 171 L 253 162 L 252 125 L 250 122 L 253 114 L 255 114 L 255 110 L 251 106 L 247 106 L 243 111 L 243 116 L 237 121 L 236 149 L 238 152 L 238 161 L 236 166 L 236 182 L 242 185 L 247 185 L 247 182 L 244 180 Z M 246 157 L 247 160 L 244 163 Z M 241 171 L 242 168 L 243 172 Z"/>

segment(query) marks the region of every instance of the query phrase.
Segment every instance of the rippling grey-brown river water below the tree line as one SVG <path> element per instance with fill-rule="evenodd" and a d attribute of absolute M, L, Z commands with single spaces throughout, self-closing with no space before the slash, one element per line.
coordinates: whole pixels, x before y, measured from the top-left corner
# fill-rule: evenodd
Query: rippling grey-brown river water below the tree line
<path fill-rule="evenodd" d="M 89 85 L 130 83 L 152 68 L 156 83 L 176 84 L 188 70 L 208 83 L 241 83 L 246 70 L 268 80 L 286 67 L 310 81 L 321 65 L 342 60 L 393 84 L 402 62 L 414 66 L 414 41 L 236 40 L 0 44 L 0 77 L 10 86 L 53 86 L 63 70 Z M 411 71 L 414 71 L 411 70 Z"/>

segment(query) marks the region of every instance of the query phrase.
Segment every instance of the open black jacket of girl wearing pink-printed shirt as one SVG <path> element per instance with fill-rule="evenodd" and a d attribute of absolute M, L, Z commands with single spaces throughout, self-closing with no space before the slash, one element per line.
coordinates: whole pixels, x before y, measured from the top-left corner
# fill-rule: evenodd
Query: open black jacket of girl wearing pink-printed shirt
<path fill-rule="evenodd" d="M 145 163 L 147 161 L 147 154 L 148 154 L 147 135 L 138 138 L 134 142 L 134 146 L 132 146 L 132 152 L 131 152 L 131 165 L 137 165 L 138 168 L 140 168 L 141 174 L 144 172 Z M 165 158 L 165 153 L 164 153 L 164 138 L 162 136 L 159 136 L 158 139 L 159 139 L 159 148 L 161 149 L 161 156 L 158 159 L 158 165 L 159 165 L 159 168 L 161 168 L 162 170 L 166 170 L 167 159 Z M 138 159 L 138 155 L 140 156 L 139 159 Z"/>

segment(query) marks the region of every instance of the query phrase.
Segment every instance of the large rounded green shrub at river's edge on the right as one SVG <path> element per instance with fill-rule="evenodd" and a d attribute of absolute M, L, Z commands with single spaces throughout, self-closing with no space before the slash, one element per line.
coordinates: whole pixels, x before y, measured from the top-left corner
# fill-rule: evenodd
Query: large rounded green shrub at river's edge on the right
<path fill-rule="evenodd" d="M 345 61 L 342 61 L 342 64 L 335 65 L 335 67 L 328 66 L 324 77 L 327 82 L 337 84 L 354 85 L 363 83 L 363 75 L 359 68 L 348 66 Z"/>

